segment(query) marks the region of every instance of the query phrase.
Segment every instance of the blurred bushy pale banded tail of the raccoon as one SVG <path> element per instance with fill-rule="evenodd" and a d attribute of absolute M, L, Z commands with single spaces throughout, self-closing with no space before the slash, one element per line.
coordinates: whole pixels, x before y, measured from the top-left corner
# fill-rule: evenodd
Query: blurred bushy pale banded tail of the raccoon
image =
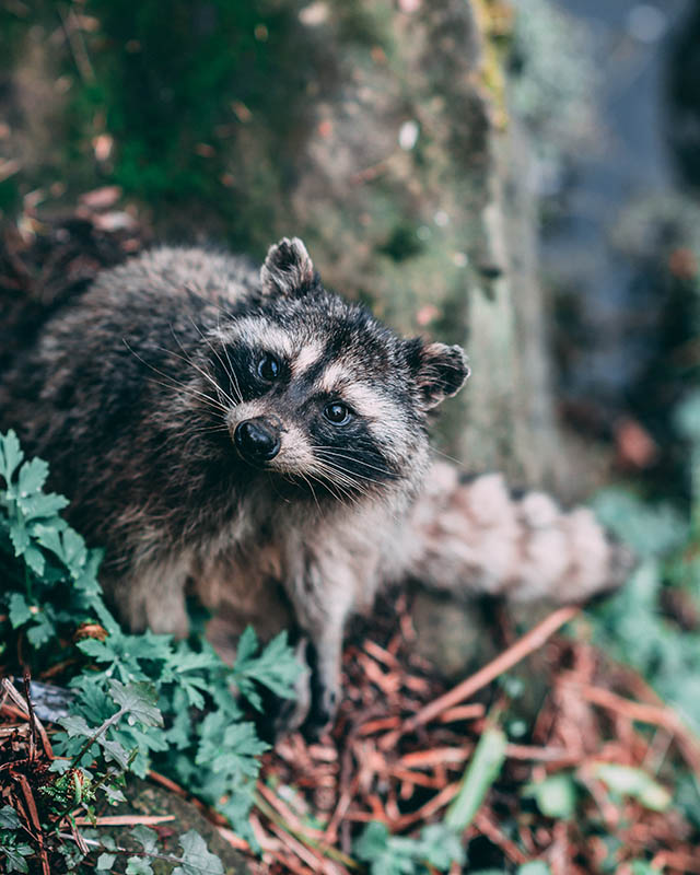
<path fill-rule="evenodd" d="M 586 508 L 516 495 L 502 475 L 474 479 L 436 463 L 409 524 L 408 573 L 455 595 L 582 602 L 625 582 L 634 558 Z"/>

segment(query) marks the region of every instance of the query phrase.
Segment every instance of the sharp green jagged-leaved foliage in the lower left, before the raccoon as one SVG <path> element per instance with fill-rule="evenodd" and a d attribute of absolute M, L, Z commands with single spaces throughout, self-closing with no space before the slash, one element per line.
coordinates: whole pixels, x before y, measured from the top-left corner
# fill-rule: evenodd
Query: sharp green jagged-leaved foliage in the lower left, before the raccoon
<path fill-rule="evenodd" d="M 0 639 L 7 655 L 20 639 L 26 641 L 37 667 L 67 656 L 78 665 L 71 713 L 54 736 L 56 779 L 43 789 L 49 817 L 58 822 L 77 807 L 94 816 L 98 804 L 124 798 L 126 772 L 143 777 L 154 767 L 218 807 L 254 841 L 247 815 L 267 745 L 232 689 L 258 710 L 262 687 L 292 697 L 300 668 L 285 634 L 260 650 L 246 630 L 230 667 L 203 640 L 124 632 L 102 598 L 101 555 L 59 515 L 67 501 L 44 492 L 47 475 L 44 462 L 24 459 L 13 432 L 0 435 L 0 567 L 8 581 L 0 593 Z M 77 631 L 79 638 L 94 637 L 73 643 Z M 11 808 L 0 809 L 0 853 L 10 872 L 27 872 L 25 858 L 33 851 L 14 835 L 15 821 Z M 133 833 L 137 841 L 145 836 Z M 177 864 L 174 873 L 222 872 L 197 833 L 186 833 L 180 843 L 182 858 L 168 859 Z M 97 850 L 108 868 L 115 849 L 97 842 Z M 127 873 L 151 872 L 149 854 L 145 845 L 143 854 L 132 854 Z"/>

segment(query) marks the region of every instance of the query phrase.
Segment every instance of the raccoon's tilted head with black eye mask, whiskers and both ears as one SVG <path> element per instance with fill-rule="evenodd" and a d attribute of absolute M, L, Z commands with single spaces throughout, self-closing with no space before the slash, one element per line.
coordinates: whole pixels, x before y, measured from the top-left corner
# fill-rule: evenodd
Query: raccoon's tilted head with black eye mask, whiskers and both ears
<path fill-rule="evenodd" d="M 272 246 L 256 310 L 211 336 L 210 368 L 234 452 L 314 499 L 416 483 L 427 411 L 468 369 L 459 347 L 406 340 L 325 291 L 302 242 Z"/>

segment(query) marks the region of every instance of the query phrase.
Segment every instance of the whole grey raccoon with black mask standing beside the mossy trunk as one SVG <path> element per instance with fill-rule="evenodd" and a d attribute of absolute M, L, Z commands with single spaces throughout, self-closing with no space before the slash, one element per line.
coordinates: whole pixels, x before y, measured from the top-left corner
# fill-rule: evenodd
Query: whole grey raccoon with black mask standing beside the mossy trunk
<path fill-rule="evenodd" d="M 582 598 L 619 576 L 587 512 L 444 465 L 427 477 L 429 410 L 467 373 L 459 347 L 327 292 L 298 238 L 259 275 L 161 248 L 47 322 L 2 380 L 0 425 L 49 460 L 132 629 L 184 634 L 188 580 L 243 619 L 270 620 L 282 593 L 314 645 L 323 723 L 346 619 L 382 582 Z"/>

